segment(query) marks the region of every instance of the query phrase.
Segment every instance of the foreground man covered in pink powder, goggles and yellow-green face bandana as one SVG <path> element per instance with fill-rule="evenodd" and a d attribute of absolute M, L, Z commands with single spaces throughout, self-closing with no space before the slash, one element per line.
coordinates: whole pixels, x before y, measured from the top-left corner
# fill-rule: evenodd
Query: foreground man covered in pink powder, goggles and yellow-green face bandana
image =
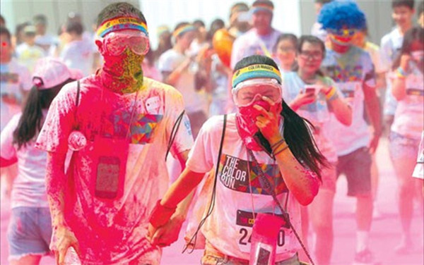
<path fill-rule="evenodd" d="M 185 218 L 182 202 L 157 245 L 146 239 L 148 213 L 169 183 L 167 150 L 184 165 L 193 144 L 184 102 L 173 87 L 143 78 L 148 30 L 134 6 L 105 7 L 95 43 L 102 68 L 61 90 L 37 139 L 48 152 L 51 247 L 57 264 L 73 247 L 82 264 L 156 265 Z M 175 235 L 162 240 L 166 230 Z"/>

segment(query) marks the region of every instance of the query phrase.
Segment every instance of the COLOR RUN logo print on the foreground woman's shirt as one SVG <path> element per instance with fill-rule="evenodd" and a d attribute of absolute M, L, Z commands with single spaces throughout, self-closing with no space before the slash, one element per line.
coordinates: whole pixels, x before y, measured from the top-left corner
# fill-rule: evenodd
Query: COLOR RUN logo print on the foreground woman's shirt
<path fill-rule="evenodd" d="M 269 195 L 259 182 L 259 168 L 261 168 L 266 178 L 275 187 L 277 195 L 288 191 L 278 165 L 259 164 L 258 166 L 255 166 L 254 162 L 223 154 L 220 158 L 218 179 L 230 190 L 250 193 L 250 182 L 253 194 Z"/>

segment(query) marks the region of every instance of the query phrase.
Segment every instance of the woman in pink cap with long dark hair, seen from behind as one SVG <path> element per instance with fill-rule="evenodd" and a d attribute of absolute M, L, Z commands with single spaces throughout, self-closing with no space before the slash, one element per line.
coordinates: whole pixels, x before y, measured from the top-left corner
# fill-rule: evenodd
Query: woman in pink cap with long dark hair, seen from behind
<path fill-rule="evenodd" d="M 0 167 L 18 164 L 11 192 L 11 222 L 8 227 L 9 262 L 39 264 L 49 254 L 52 225 L 45 185 L 47 153 L 35 149 L 35 139 L 50 104 L 66 83 L 82 77 L 53 58 L 35 65 L 33 88 L 22 112 L 1 131 Z"/>

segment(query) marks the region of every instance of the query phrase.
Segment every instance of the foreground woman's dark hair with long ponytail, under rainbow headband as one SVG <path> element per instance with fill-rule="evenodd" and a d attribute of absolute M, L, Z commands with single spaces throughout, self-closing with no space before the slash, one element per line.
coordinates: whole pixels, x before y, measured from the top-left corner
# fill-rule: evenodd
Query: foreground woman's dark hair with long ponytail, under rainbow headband
<path fill-rule="evenodd" d="M 273 61 L 273 59 L 261 55 L 252 55 L 242 58 L 241 61 L 237 62 L 234 71 L 254 64 L 266 64 L 278 69 L 276 62 Z M 290 106 L 288 106 L 284 100 L 281 104 L 283 105 L 281 116 L 284 118 L 283 136 L 285 142 L 287 142 L 290 151 L 293 153 L 298 162 L 303 166 L 310 168 L 310 170 L 321 178 L 319 165 L 321 164 L 326 166 L 327 161 L 321 152 L 319 152 L 319 149 L 317 149 L 314 137 L 312 137 L 310 129 L 307 127 L 307 123 L 309 122 L 295 113 L 293 109 L 290 109 Z M 313 125 L 311 123 L 309 124 L 313 128 Z M 267 151 L 271 152 L 271 146 L 265 139 L 264 135 L 258 132 L 257 136 Z"/>

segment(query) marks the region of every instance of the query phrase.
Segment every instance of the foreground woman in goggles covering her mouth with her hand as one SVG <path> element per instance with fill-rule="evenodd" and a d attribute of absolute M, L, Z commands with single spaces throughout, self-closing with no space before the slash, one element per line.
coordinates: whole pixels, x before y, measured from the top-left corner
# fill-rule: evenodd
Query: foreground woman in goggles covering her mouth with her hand
<path fill-rule="evenodd" d="M 324 156 L 305 121 L 282 100 L 281 73 L 271 58 L 239 61 L 232 95 L 237 113 L 206 121 L 187 168 L 156 204 L 151 242 L 169 236 L 156 229 L 213 169 L 213 188 L 206 192 L 213 197 L 201 221 L 201 264 L 298 265 L 300 204 L 317 195 Z"/>

